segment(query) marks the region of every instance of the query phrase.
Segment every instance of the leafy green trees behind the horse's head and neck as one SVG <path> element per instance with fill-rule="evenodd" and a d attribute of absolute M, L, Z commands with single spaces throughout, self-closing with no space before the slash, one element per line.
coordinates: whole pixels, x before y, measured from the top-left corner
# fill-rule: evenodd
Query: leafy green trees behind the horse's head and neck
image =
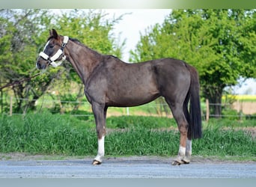
<path fill-rule="evenodd" d="M 124 43 L 116 45 L 112 34 L 121 17 L 106 20 L 104 16 L 102 12 L 85 13 L 83 10 L 71 10 L 62 15 L 55 15 L 51 10 L 0 10 L 0 84 L 28 78 L 38 72 L 35 67 L 37 55 L 43 50 L 51 28 L 76 37 L 99 52 L 121 57 Z M 65 88 L 70 87 L 70 82 L 81 83 L 70 64 L 49 68 L 31 81 L 11 87 L 11 94 L 16 98 L 13 111 L 34 109 L 35 101 L 53 88 L 55 82 Z M 82 89 L 79 90 L 81 94 Z"/>

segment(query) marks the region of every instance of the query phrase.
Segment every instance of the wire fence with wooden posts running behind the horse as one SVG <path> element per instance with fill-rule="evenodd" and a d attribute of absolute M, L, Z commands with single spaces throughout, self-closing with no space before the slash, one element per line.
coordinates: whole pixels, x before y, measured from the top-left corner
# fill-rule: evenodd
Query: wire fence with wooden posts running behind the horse
<path fill-rule="evenodd" d="M 26 114 L 28 110 L 23 109 L 23 112 L 13 112 L 13 105 L 20 100 L 22 102 L 34 102 L 36 106 L 35 112 L 41 111 L 43 108 L 54 111 L 54 113 L 68 113 L 76 117 L 93 116 L 91 104 L 86 100 L 60 100 L 60 99 L 24 99 L 24 98 L 0 98 L 1 114 L 20 115 Z M 163 100 L 162 100 L 163 101 Z M 118 115 L 148 115 L 156 117 L 172 117 L 171 111 L 165 102 L 150 102 L 146 105 L 141 105 L 132 108 L 109 108 L 108 116 Z M 4 106 L 3 106 L 4 105 Z M 222 114 L 213 114 L 210 107 L 219 105 L 222 107 Z M 202 116 L 204 120 L 209 120 L 210 117 L 254 117 L 256 118 L 256 102 L 241 102 L 237 100 L 233 103 L 209 103 L 201 102 Z M 77 112 L 79 111 L 79 112 Z M 84 112 L 83 112 L 84 111 Z"/>

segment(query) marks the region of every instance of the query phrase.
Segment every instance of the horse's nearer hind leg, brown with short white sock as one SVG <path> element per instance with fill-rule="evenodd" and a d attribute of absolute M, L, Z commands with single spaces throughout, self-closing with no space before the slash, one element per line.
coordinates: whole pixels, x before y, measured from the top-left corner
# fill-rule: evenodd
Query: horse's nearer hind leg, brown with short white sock
<path fill-rule="evenodd" d="M 166 102 L 171 108 L 172 114 L 174 115 L 174 119 L 177 122 L 179 131 L 180 131 L 180 148 L 178 152 L 177 159 L 172 162 L 172 165 L 180 165 L 184 163 L 186 160 L 186 141 L 187 141 L 187 133 L 189 128 L 189 123 L 186 120 L 185 114 L 183 113 L 183 104 L 178 102 L 170 102 L 166 99 Z"/>

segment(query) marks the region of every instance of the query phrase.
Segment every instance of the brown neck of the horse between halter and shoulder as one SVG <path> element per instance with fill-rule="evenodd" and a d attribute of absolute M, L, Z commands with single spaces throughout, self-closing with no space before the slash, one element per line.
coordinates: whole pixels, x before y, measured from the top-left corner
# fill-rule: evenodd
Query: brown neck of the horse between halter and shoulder
<path fill-rule="evenodd" d="M 67 54 L 65 55 L 67 55 L 67 61 L 70 61 L 70 64 L 72 64 L 85 85 L 94 68 L 103 61 L 103 55 L 71 40 L 66 48 Z"/>

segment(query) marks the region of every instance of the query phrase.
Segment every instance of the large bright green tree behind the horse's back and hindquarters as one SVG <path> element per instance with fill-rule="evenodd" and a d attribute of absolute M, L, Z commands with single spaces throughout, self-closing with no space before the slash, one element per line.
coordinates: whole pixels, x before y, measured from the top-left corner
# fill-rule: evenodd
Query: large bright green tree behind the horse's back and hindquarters
<path fill-rule="evenodd" d="M 174 10 L 162 25 L 146 31 L 132 61 L 173 57 L 195 66 L 211 103 L 240 76 L 256 77 L 255 10 Z M 217 117 L 221 105 L 213 105 Z"/>

